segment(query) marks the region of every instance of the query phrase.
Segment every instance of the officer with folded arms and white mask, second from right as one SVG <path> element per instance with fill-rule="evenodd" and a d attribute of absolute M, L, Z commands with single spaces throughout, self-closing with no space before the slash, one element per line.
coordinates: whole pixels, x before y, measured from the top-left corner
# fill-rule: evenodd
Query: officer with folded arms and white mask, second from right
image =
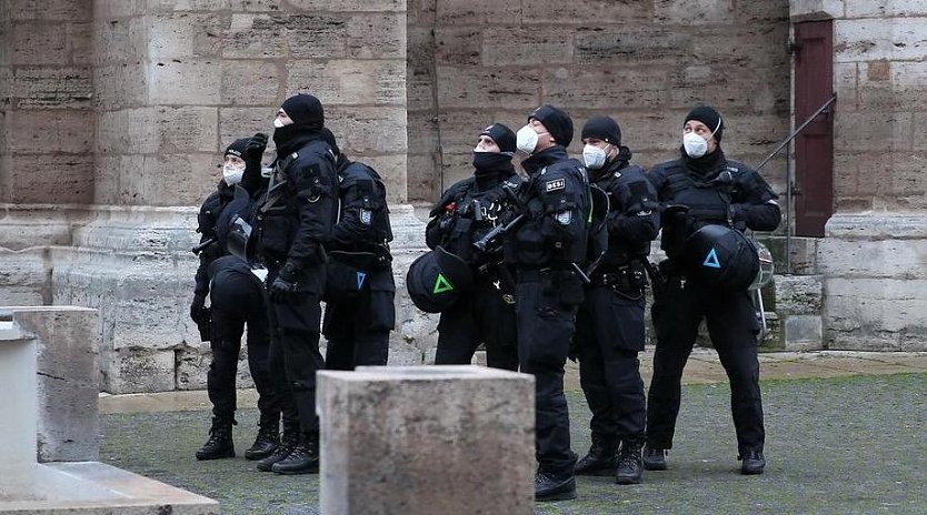
<path fill-rule="evenodd" d="M 582 127 L 582 141 L 589 182 L 608 194 L 609 210 L 594 225 L 606 244 L 590 244 L 591 285 L 577 314 L 579 382 L 592 412 L 592 445 L 576 473 L 616 474 L 619 484 L 634 484 L 641 476 L 646 411 L 638 353 L 645 340 L 645 260 L 660 230 L 657 194 L 644 169 L 630 164 L 615 120 L 592 118 Z"/>

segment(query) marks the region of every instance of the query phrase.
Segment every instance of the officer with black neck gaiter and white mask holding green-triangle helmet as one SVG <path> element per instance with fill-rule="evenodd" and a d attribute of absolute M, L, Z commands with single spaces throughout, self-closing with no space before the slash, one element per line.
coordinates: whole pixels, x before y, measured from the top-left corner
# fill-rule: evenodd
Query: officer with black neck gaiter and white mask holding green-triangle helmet
<path fill-rule="evenodd" d="M 515 132 L 494 123 L 479 133 L 474 149 L 474 176 L 450 186 L 429 213 L 426 243 L 466 261 L 474 274 L 467 302 L 441 312 L 435 364 L 469 364 L 480 344 L 486 363 L 518 368 L 515 280 L 504 263 L 501 245 L 475 248 L 488 232 L 512 218 L 514 192 L 524 180 L 515 171 Z"/>

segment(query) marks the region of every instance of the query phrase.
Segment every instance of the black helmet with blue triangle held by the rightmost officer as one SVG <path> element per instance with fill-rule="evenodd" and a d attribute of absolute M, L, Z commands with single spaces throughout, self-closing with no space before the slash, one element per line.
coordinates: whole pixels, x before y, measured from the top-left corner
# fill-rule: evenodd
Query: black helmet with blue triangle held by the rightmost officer
<path fill-rule="evenodd" d="M 705 225 L 682 250 L 686 275 L 726 290 L 747 290 L 759 272 L 759 255 L 742 232 L 724 225 Z"/>

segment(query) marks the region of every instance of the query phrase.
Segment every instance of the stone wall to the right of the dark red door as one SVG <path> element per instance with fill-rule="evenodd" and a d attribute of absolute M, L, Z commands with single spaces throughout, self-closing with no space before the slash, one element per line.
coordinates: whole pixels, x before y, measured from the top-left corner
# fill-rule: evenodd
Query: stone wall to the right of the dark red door
<path fill-rule="evenodd" d="M 818 245 L 830 349 L 927 349 L 927 4 L 791 1 L 834 20 L 835 214 Z"/>

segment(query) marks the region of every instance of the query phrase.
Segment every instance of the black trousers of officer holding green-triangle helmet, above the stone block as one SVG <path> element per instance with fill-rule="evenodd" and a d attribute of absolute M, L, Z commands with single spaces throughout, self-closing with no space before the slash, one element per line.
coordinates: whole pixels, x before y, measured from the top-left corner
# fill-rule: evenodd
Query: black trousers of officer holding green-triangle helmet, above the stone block
<path fill-rule="evenodd" d="M 486 344 L 487 365 L 517 370 L 515 299 L 509 294 L 506 302 L 492 275 L 479 273 L 474 280 L 474 290 L 441 313 L 435 364 L 468 365 L 477 347 Z"/>

